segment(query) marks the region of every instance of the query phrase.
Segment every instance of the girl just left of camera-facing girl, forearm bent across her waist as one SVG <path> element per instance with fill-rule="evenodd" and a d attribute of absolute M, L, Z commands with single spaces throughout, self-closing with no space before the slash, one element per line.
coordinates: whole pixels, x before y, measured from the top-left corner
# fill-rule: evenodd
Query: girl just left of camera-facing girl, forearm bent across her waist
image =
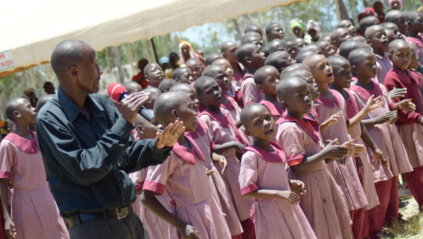
<path fill-rule="evenodd" d="M 212 140 L 216 144 L 213 151 L 227 159 L 226 172 L 222 177 L 235 203 L 244 231 L 243 238 L 254 238 L 254 227 L 250 220 L 253 200 L 241 196 L 238 182 L 240 162 L 237 153 L 242 153 L 245 142 L 232 120 L 220 111 L 223 94 L 217 82 L 212 77 L 203 76 L 197 79 L 194 88 L 200 101 L 206 105 L 206 110 L 200 114 L 199 119 L 202 119 L 209 128 Z M 221 170 L 220 165 L 215 166 L 217 170 Z"/>

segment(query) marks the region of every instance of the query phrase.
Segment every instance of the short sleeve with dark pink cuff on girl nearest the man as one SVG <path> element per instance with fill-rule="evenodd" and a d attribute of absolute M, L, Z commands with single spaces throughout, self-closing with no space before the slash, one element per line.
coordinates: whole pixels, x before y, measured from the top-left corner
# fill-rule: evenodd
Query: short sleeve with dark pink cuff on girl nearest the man
<path fill-rule="evenodd" d="M 174 168 L 177 167 L 177 157 L 178 156 L 172 153 L 162 164 L 149 167 L 142 190 L 148 190 L 158 195 L 163 195 L 166 182 L 173 173 Z"/>

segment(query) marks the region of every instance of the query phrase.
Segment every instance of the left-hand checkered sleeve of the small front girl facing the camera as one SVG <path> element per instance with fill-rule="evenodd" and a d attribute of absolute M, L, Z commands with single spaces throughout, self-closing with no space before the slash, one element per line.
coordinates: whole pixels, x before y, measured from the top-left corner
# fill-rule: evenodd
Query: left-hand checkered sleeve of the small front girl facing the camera
<path fill-rule="evenodd" d="M 239 185 L 241 195 L 254 192 L 258 189 L 257 183 L 257 158 L 253 151 L 246 151 L 242 155 L 241 171 L 239 173 Z"/>

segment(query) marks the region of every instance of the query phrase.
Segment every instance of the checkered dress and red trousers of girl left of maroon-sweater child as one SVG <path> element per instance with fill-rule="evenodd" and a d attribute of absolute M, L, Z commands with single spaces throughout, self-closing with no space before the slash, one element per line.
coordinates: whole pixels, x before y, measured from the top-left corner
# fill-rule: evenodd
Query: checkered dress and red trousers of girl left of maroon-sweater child
<path fill-rule="evenodd" d="M 354 96 L 359 110 L 364 108 L 371 95 L 385 98 L 385 103 L 381 107 L 371 111 L 364 119 L 376 118 L 395 107 L 382 84 L 372 79 L 372 85 L 373 90 L 366 90 L 357 84 L 352 85 L 350 88 L 350 92 Z M 373 167 L 373 181 L 375 182 L 379 205 L 366 211 L 364 225 L 369 229 L 363 229 L 363 237 L 378 234 L 385 221 L 389 224 L 393 218 L 399 218 L 398 174 L 413 170 L 404 145 L 399 139 L 399 136 L 396 136 L 398 135 L 398 131 L 395 125 L 385 122 L 368 127 L 367 130 L 380 150 L 385 154 L 388 167 L 384 168 L 374 158 L 371 149 L 367 147 L 367 153 Z"/>

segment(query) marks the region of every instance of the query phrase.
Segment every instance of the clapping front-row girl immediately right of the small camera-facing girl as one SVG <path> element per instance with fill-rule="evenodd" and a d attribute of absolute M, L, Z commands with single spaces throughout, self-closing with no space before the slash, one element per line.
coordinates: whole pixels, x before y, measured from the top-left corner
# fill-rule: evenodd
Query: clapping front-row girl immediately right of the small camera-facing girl
<path fill-rule="evenodd" d="M 326 164 L 347 155 L 348 148 L 323 145 L 316 120 L 305 118 L 312 109 L 307 83 L 299 77 L 282 80 L 276 86 L 278 98 L 288 115 L 279 119 L 277 143 L 286 155 L 288 177 L 305 184 L 300 206 L 317 238 L 352 238 L 350 216 L 342 191 Z"/>

